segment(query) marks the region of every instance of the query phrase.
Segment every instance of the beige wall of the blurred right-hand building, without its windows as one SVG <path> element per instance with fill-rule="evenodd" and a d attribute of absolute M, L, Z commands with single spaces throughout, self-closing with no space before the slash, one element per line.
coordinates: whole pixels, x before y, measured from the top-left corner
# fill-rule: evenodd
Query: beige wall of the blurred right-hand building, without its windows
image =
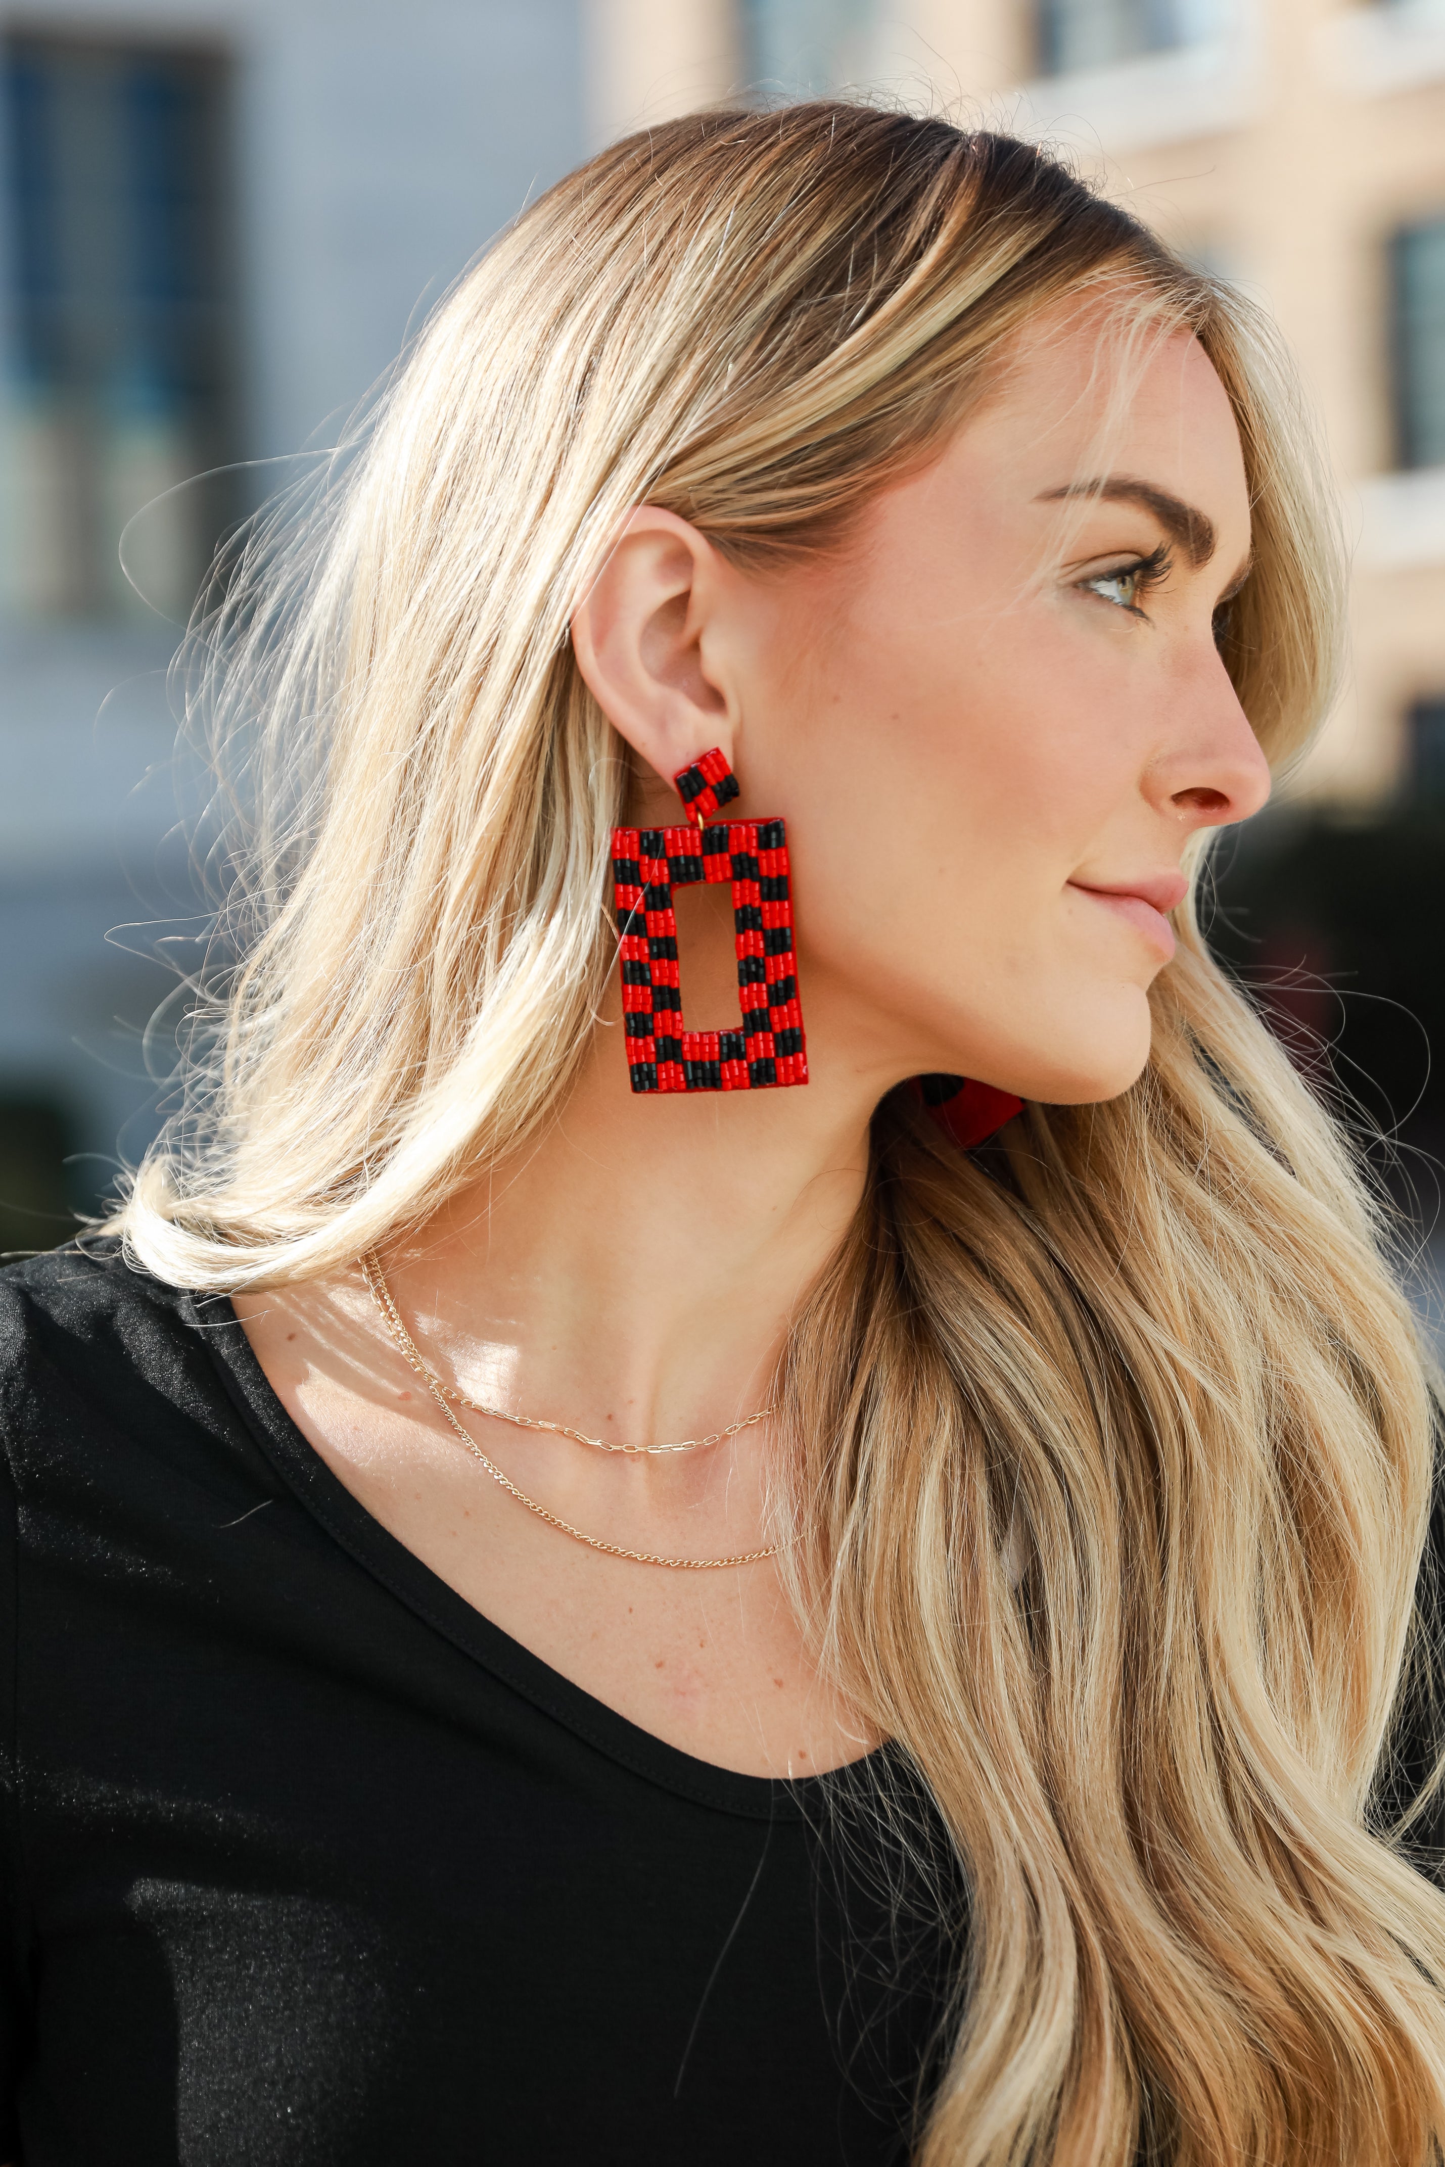
<path fill-rule="evenodd" d="M 1384 241 L 1445 212 L 1445 0 L 1233 0 L 1209 48 L 1031 82 L 1027 0 L 880 7 L 871 82 L 1062 141 L 1278 319 L 1356 548 L 1350 689 L 1300 787 L 1400 787 L 1408 702 L 1445 693 L 1445 470 L 1391 477 Z M 602 137 L 728 95 L 730 0 L 594 0 Z"/>

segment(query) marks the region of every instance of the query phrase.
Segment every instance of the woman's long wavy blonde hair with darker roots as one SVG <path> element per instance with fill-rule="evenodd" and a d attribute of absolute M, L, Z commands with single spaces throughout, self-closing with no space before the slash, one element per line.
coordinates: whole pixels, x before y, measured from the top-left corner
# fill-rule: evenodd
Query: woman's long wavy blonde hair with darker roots
<path fill-rule="evenodd" d="M 626 511 L 825 548 L 1068 297 L 1187 325 L 1280 765 L 1339 553 L 1267 325 L 1040 152 L 849 104 L 711 113 L 550 191 L 440 308 L 199 652 L 243 752 L 238 960 L 115 1224 L 188 1287 L 338 1272 L 552 1118 L 613 960 L 626 761 L 568 622 Z M 292 535 L 292 540 L 286 540 Z M 793 1597 L 968 1881 L 927 2167 L 1421 2163 L 1445 1900 L 1378 1827 L 1432 1402 L 1330 1116 L 1189 912 L 1142 1081 L 992 1168 L 903 1094 L 784 1359 Z"/>

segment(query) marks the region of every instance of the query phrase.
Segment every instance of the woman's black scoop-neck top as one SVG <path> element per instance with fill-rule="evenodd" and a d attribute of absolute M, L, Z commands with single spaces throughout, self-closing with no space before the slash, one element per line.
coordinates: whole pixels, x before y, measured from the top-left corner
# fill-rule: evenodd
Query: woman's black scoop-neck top
<path fill-rule="evenodd" d="M 0 1274 L 0 2160 L 906 2158 L 962 1903 L 893 1755 L 613 1714 L 113 1255 Z"/>

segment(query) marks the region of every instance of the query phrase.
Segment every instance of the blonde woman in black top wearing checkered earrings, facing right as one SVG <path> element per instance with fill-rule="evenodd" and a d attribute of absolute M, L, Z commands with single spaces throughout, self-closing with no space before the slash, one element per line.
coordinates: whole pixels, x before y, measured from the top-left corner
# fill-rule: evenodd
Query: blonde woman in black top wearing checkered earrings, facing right
<path fill-rule="evenodd" d="M 11 2150 L 1434 2156 L 1430 1396 L 1192 914 L 1332 685 L 1263 325 L 691 117 L 295 533 L 184 1114 L 4 1281 Z"/>

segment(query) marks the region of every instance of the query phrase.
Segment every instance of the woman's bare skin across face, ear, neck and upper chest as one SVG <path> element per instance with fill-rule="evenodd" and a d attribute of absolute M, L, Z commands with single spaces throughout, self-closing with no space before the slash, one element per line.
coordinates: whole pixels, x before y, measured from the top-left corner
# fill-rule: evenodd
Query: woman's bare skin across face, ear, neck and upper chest
<path fill-rule="evenodd" d="M 429 1361 L 479 1400 L 609 1441 L 702 1437 L 767 1404 L 789 1313 L 836 1248 L 869 1116 L 921 1070 L 1051 1103 L 1127 1090 L 1185 845 L 1267 797 L 1213 615 L 1248 568 L 1228 399 L 1176 334 L 1109 436 L 1103 323 L 1040 319 L 999 392 L 847 546 L 784 572 L 633 514 L 574 620 L 637 756 L 630 817 L 721 745 L 741 813 L 784 815 L 812 1081 L 637 1099 L 613 984 L 555 1127 L 388 1255 Z M 1105 492 L 1068 494 L 1105 479 Z M 1192 507 L 1181 518 L 1176 505 Z M 1135 568 L 1166 544 L 1150 583 Z M 737 1012 L 726 891 L 678 904 L 689 1027 Z M 444 1426 L 349 1274 L 236 1302 L 316 1452 L 425 1565 L 539 1658 L 687 1753 L 808 1775 L 867 1751 L 776 1567 L 604 1558 L 507 1497 Z M 468 1415 L 511 1480 L 669 1556 L 754 1549 L 769 1424 L 617 1458 Z"/>

